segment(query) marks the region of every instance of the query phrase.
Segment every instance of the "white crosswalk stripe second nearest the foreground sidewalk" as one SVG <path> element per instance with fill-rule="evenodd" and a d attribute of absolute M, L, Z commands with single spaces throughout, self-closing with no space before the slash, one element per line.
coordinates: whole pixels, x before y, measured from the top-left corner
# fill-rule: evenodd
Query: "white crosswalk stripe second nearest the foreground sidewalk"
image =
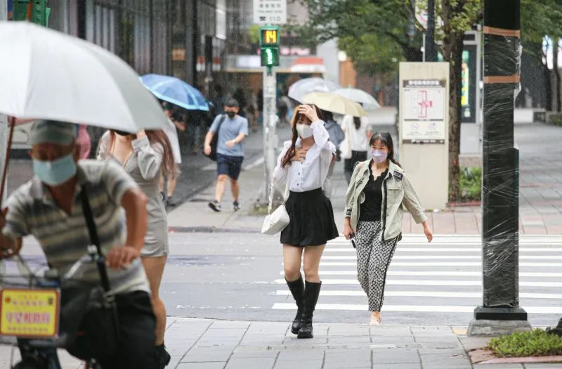
<path fill-rule="evenodd" d="M 289 290 L 277 290 L 276 296 L 290 296 Z M 363 291 L 349 291 L 349 290 L 320 290 L 320 296 L 339 296 L 339 297 L 365 297 L 367 295 Z M 444 292 L 444 291 L 384 291 L 385 297 L 447 297 L 469 299 L 483 297 L 482 292 Z M 526 293 L 519 294 L 521 299 L 562 299 L 562 294 L 554 293 Z"/>

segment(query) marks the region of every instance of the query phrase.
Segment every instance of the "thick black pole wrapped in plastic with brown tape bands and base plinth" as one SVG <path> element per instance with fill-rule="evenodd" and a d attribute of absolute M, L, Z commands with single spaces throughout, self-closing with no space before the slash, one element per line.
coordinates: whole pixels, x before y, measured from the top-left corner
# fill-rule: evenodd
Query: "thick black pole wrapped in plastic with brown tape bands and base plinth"
<path fill-rule="evenodd" d="M 469 335 L 530 329 L 519 306 L 519 152 L 514 90 L 520 77 L 520 0 L 485 0 L 482 183 L 483 306 Z"/>

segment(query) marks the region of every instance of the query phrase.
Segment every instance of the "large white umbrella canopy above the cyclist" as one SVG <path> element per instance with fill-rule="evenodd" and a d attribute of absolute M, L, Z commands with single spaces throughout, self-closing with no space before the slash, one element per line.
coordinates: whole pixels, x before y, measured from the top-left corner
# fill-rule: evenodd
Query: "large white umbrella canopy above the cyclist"
<path fill-rule="evenodd" d="M 157 99 L 109 51 L 29 22 L 0 22 L 0 112 L 138 132 L 166 127 Z"/>

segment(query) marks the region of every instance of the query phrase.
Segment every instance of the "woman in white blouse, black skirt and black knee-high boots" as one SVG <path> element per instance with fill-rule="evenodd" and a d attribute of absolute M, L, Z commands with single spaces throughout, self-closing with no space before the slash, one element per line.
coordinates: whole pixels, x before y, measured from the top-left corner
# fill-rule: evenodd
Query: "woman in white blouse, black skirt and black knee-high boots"
<path fill-rule="evenodd" d="M 292 140 L 277 159 L 273 182 L 289 188 L 285 202 L 289 225 L 281 232 L 285 280 L 296 302 L 291 331 L 299 338 L 312 338 L 312 316 L 320 294 L 318 266 L 328 240 L 338 236 L 332 203 L 322 193 L 335 146 L 315 105 L 295 108 Z M 303 282 L 301 259 L 304 259 Z"/>

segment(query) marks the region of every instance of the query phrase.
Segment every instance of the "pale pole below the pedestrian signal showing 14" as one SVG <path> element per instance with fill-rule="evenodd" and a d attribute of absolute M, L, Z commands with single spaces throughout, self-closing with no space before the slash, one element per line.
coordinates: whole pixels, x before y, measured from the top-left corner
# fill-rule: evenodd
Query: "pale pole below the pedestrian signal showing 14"
<path fill-rule="evenodd" d="M 271 176 L 275 168 L 275 148 L 277 147 L 277 135 L 275 127 L 277 119 L 275 115 L 275 97 L 277 96 L 277 77 L 273 67 L 266 67 L 263 72 L 263 168 L 265 169 L 265 201 L 269 198 Z"/>

